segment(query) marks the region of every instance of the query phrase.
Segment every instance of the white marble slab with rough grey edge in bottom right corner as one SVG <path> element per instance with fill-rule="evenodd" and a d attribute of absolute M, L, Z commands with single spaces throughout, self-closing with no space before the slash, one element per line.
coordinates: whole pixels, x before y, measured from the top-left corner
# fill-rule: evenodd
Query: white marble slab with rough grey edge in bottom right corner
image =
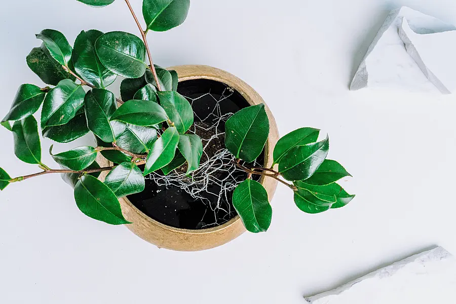
<path fill-rule="evenodd" d="M 456 298 L 456 259 L 444 248 L 410 256 L 331 291 L 311 304 L 428 304 Z"/>

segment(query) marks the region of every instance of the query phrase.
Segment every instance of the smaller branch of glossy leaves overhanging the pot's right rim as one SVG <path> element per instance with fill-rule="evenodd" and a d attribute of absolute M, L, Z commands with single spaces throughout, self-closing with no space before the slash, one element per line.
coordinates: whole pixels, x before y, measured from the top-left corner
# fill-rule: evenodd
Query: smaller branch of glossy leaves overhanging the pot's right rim
<path fill-rule="evenodd" d="M 326 159 L 329 138 L 318 141 L 320 130 L 300 128 L 279 139 L 274 148 L 271 168 L 252 168 L 259 174 L 291 181 L 296 206 L 306 213 L 320 213 L 347 205 L 355 196 L 336 183 L 351 176 L 343 166 Z M 239 160 L 254 161 L 269 136 L 269 120 L 263 104 L 235 113 L 225 125 L 225 146 Z M 274 167 L 278 165 L 278 171 Z M 282 181 L 284 182 L 284 181 Z M 284 182 L 286 183 L 286 182 Z M 264 232 L 271 224 L 272 208 L 261 183 L 247 179 L 235 189 L 233 205 L 250 232 Z"/>

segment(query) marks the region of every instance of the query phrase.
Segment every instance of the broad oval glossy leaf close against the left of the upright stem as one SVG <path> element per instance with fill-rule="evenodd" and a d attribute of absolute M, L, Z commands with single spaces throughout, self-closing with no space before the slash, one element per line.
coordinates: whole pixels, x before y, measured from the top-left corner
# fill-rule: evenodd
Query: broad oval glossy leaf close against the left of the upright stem
<path fill-rule="evenodd" d="M 133 34 L 121 31 L 105 33 L 98 38 L 95 48 L 101 63 L 123 77 L 141 77 L 147 68 L 144 43 Z"/>

